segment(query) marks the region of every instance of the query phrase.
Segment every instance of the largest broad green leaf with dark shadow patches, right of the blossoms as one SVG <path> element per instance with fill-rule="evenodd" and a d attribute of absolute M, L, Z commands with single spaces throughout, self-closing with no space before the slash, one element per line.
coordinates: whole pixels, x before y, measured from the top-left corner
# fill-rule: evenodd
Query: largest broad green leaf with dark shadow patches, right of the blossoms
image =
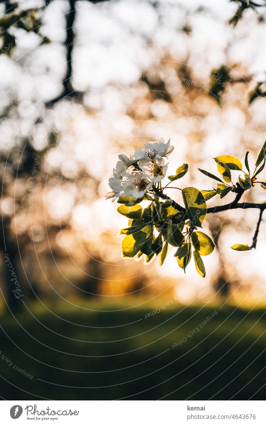
<path fill-rule="evenodd" d="M 182 190 L 185 209 L 194 226 L 202 227 L 201 224 L 206 216 L 206 202 L 199 190 L 194 187 L 185 187 Z"/>

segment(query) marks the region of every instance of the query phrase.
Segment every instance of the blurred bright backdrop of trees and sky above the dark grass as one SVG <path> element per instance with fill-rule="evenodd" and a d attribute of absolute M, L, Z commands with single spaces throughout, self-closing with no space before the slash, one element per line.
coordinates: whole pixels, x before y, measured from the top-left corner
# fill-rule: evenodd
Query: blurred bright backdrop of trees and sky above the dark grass
<path fill-rule="evenodd" d="M 153 138 L 171 137 L 194 186 L 209 185 L 196 170 L 211 157 L 252 155 L 262 144 L 260 3 L 1 2 L 0 243 L 24 302 L 166 293 L 187 302 L 217 291 L 233 299 L 250 292 L 254 274 L 253 296 L 264 288 L 263 236 L 256 258 L 228 248 L 251 237 L 254 212 L 208 218 L 218 250 L 203 284 L 174 259 L 167 279 L 155 262 L 122 261 L 113 228 L 125 221 L 103 200 L 117 154 Z M 15 310 L 4 259 L 2 270 L 4 302 Z"/>

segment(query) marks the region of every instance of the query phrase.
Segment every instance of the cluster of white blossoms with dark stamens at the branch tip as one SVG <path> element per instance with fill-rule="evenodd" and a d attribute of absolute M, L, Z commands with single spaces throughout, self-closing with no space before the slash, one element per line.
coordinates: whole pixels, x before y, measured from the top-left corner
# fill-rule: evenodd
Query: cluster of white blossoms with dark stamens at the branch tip
<path fill-rule="evenodd" d="M 167 164 L 164 158 L 167 158 L 172 151 L 170 140 L 165 143 L 163 139 L 159 139 L 146 143 L 144 149 L 139 149 L 128 156 L 118 155 L 119 161 L 113 169 L 113 177 L 109 179 L 111 192 L 105 197 L 141 198 L 154 183 L 165 176 Z"/>

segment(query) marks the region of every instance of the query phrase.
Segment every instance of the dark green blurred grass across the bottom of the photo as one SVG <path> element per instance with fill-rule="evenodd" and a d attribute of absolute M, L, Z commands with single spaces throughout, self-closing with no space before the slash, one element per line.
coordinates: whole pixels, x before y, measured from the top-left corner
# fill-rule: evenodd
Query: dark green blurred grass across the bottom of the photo
<path fill-rule="evenodd" d="M 262 309 L 48 306 L 0 316 L 4 399 L 265 399 Z"/>

